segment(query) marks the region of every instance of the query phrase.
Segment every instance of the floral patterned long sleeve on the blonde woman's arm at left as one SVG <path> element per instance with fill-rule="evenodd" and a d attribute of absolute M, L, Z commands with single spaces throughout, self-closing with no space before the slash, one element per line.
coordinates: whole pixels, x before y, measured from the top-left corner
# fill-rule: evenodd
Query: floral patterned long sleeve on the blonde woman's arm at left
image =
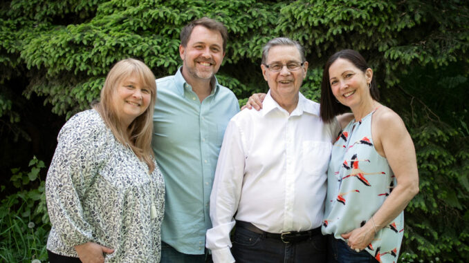
<path fill-rule="evenodd" d="M 88 115 L 79 113 L 62 127 L 46 178 L 50 222 L 60 240 L 71 247 L 93 240 L 93 227 L 84 220 L 82 205 L 104 159 L 107 128 L 101 119 Z"/>

